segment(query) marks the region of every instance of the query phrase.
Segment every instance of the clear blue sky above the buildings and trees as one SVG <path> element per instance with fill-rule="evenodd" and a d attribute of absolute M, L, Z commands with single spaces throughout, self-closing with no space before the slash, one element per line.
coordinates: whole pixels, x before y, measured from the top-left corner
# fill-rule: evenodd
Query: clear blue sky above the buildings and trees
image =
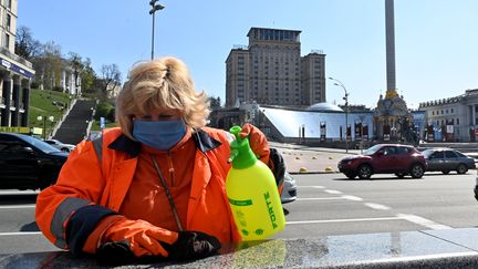
<path fill-rule="evenodd" d="M 150 58 L 148 0 L 19 0 L 18 25 L 102 64 Z M 160 0 L 155 56 L 175 55 L 197 90 L 225 101 L 226 64 L 251 27 L 301 30 L 302 55 L 325 54 L 326 76 L 343 82 L 350 103 L 376 106 L 386 91 L 384 0 Z M 396 0 L 396 86 L 409 107 L 478 89 L 478 1 Z M 343 90 L 328 80 L 328 102 Z"/>

